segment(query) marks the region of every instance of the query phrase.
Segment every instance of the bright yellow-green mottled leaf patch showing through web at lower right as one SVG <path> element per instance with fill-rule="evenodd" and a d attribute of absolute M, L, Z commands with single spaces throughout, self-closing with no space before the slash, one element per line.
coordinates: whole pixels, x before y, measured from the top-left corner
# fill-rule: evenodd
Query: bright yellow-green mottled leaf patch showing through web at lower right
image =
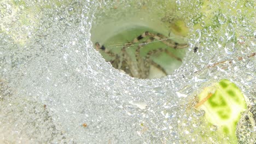
<path fill-rule="evenodd" d="M 208 125 L 216 125 L 219 142 L 237 143 L 236 125 L 241 113 L 247 110 L 247 105 L 244 95 L 235 83 L 221 80 L 203 89 L 197 98 L 199 103 L 195 107 L 205 111 Z"/>

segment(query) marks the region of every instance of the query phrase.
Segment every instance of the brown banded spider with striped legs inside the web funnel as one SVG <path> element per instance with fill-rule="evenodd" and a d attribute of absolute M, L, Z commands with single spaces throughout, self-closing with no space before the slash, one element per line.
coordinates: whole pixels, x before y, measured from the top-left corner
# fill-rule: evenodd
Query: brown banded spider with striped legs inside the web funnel
<path fill-rule="evenodd" d="M 164 44 L 164 47 L 153 47 L 154 49 L 149 49 L 144 56 L 141 54 L 141 50 L 152 43 L 160 41 L 161 44 Z M 136 49 L 133 51 L 133 56 L 128 50 L 131 47 L 136 46 Z M 159 46 L 159 45 L 156 45 Z M 114 52 L 113 49 L 108 49 L 100 43 L 95 43 L 95 48 L 101 53 L 105 53 L 110 56 L 110 62 L 112 66 L 116 69 L 124 71 L 126 74 L 129 74 L 132 77 L 137 77 L 139 79 L 151 79 L 151 78 L 160 78 L 166 76 L 168 73 L 165 68 L 163 68 L 158 62 L 154 60 L 155 56 L 159 56 L 161 53 L 166 53 L 168 57 L 171 57 L 173 61 L 182 62 L 182 59 L 174 55 L 167 48 L 171 47 L 176 51 L 177 49 L 184 49 L 188 47 L 188 44 L 178 44 L 175 41 L 167 38 L 165 35 L 153 32 L 143 32 L 141 35 L 133 39 L 130 43 L 126 43 L 121 46 L 119 52 Z M 158 69 L 161 71 L 160 76 L 149 77 L 153 69 Z"/>

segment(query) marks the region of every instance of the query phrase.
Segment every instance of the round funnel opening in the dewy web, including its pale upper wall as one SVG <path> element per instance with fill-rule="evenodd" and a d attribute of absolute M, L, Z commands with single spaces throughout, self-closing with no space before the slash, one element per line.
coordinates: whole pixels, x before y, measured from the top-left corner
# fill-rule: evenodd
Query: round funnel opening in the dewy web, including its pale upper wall
<path fill-rule="evenodd" d="M 156 9 L 157 3 L 131 4 L 134 7 L 113 2 L 97 9 L 91 28 L 94 48 L 106 62 L 132 77 L 172 75 L 188 50 L 184 37 L 189 29 L 183 15 L 176 14 L 176 7 L 163 11 Z"/>

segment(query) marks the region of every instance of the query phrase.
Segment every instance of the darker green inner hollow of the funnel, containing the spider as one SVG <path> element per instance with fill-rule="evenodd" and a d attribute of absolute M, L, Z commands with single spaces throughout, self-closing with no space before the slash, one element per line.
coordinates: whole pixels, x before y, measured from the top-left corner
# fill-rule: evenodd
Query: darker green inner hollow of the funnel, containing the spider
<path fill-rule="evenodd" d="M 133 26 L 93 42 L 114 68 L 139 79 L 156 79 L 171 75 L 181 66 L 188 45 L 178 41 L 182 40 L 148 27 Z"/>

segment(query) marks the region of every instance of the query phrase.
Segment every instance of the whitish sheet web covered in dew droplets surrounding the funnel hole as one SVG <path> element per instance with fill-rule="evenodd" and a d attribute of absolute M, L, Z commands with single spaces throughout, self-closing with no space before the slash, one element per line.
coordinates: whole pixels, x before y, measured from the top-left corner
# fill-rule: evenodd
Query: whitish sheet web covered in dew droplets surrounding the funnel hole
<path fill-rule="evenodd" d="M 193 105 L 203 87 L 228 79 L 255 105 L 255 10 L 246 11 L 254 6 L 217 3 L 1 1 L 0 143 L 202 143 L 197 132 L 207 125 Z M 235 12 L 216 11 L 222 5 Z M 94 49 L 92 27 L 125 16 L 130 25 L 140 13 L 187 22 L 189 48 L 172 75 L 133 78 Z M 240 131 L 241 143 L 248 133 Z"/>

